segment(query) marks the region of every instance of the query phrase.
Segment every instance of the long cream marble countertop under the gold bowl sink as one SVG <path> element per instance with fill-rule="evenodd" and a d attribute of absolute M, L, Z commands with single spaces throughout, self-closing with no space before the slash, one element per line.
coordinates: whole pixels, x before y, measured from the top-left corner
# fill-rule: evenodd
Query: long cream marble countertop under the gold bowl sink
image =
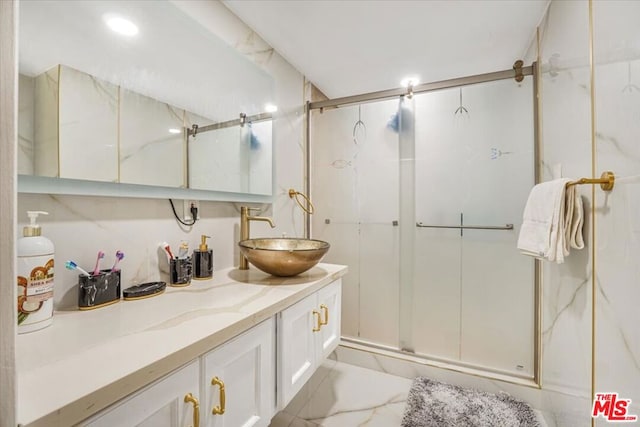
<path fill-rule="evenodd" d="M 318 264 L 291 278 L 254 269 L 91 311 L 57 311 L 16 340 L 18 421 L 69 426 L 346 274 Z"/>

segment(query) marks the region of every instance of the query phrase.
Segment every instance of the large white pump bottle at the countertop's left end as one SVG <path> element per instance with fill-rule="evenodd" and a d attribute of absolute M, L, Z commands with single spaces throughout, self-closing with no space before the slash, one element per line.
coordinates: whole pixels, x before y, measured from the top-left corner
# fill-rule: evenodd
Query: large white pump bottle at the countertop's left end
<path fill-rule="evenodd" d="M 45 328 L 53 321 L 54 246 L 42 236 L 36 224 L 38 215 L 47 212 L 27 211 L 30 224 L 18 239 L 18 333 Z"/>

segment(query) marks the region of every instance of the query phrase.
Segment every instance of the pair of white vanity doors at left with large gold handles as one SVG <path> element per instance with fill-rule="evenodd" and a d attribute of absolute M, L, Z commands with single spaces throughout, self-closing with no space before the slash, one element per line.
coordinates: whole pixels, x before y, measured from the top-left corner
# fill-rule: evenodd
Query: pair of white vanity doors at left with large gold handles
<path fill-rule="evenodd" d="M 83 425 L 266 427 L 275 414 L 275 384 L 272 317 Z"/>

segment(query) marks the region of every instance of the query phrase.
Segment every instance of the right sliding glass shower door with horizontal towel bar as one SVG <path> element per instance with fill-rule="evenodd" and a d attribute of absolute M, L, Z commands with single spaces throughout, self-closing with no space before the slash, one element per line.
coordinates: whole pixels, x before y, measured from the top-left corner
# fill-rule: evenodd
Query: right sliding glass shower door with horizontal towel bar
<path fill-rule="evenodd" d="M 416 353 L 533 376 L 534 262 L 516 249 L 532 93 L 528 78 L 416 96 Z"/>

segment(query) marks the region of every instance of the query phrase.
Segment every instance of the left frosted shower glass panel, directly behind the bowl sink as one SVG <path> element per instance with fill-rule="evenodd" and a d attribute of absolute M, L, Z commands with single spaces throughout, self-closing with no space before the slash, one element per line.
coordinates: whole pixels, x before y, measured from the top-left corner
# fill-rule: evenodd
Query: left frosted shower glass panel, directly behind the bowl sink
<path fill-rule="evenodd" d="M 398 101 L 312 112 L 313 237 L 343 278 L 343 336 L 396 348 L 399 316 Z"/>

